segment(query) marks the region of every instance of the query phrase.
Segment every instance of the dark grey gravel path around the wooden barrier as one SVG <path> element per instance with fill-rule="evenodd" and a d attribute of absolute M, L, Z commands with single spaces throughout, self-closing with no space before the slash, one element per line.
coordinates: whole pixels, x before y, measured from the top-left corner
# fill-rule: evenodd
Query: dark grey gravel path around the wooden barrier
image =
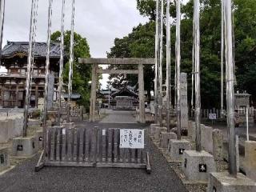
<path fill-rule="evenodd" d="M 113 128 L 142 127 L 140 124 L 78 123 L 78 126 L 95 125 Z M 153 143 L 150 144 L 151 174 L 138 169 L 74 167 L 45 167 L 35 173 L 37 160 L 38 157 L 27 160 L 0 176 L 0 191 L 187 191 Z"/>

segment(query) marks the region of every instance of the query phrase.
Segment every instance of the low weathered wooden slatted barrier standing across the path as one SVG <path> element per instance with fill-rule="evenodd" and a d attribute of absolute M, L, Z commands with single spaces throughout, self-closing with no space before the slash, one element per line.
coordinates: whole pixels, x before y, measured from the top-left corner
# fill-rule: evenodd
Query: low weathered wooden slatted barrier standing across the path
<path fill-rule="evenodd" d="M 43 166 L 145 168 L 150 173 L 148 138 L 144 149 L 120 148 L 120 129 L 47 128 L 46 147 L 36 171 Z M 146 134 L 145 134 L 146 135 Z"/>

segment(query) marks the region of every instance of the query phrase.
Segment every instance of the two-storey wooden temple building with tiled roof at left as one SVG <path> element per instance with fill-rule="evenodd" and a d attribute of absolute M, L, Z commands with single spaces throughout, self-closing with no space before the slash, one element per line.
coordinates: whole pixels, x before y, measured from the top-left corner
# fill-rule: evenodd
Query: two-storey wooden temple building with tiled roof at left
<path fill-rule="evenodd" d="M 2 49 L 2 66 L 6 67 L 6 71 L 0 73 L 0 107 L 24 107 L 28 48 L 29 42 L 7 42 Z M 30 95 L 30 107 L 32 108 L 38 107 L 38 100 L 40 98 L 42 100 L 45 94 L 46 50 L 46 43 L 35 42 Z M 53 105 L 57 96 L 59 58 L 59 43 L 51 43 L 48 107 Z"/>

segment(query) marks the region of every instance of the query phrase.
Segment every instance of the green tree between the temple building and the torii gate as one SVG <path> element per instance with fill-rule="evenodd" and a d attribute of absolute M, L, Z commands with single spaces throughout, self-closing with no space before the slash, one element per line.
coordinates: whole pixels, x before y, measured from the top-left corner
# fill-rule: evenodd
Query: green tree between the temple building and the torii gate
<path fill-rule="evenodd" d="M 51 35 L 52 42 L 60 42 L 61 33 L 56 31 Z M 70 30 L 64 34 L 65 46 L 65 66 L 63 71 L 63 82 L 68 83 L 69 58 L 70 58 Z M 78 58 L 90 58 L 90 47 L 86 38 L 80 34 L 74 33 L 74 72 L 72 88 L 73 92 L 81 94 L 82 99 L 79 104 L 89 107 L 90 86 L 88 82 L 91 79 L 91 66 L 78 63 Z"/>

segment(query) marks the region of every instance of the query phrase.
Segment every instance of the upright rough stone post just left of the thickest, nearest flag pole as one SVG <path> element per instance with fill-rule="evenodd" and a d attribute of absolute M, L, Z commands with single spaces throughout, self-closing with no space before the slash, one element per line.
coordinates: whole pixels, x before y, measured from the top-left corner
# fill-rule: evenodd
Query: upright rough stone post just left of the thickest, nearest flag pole
<path fill-rule="evenodd" d="M 213 130 L 213 154 L 217 161 L 223 160 L 223 134 L 222 130 Z"/>

